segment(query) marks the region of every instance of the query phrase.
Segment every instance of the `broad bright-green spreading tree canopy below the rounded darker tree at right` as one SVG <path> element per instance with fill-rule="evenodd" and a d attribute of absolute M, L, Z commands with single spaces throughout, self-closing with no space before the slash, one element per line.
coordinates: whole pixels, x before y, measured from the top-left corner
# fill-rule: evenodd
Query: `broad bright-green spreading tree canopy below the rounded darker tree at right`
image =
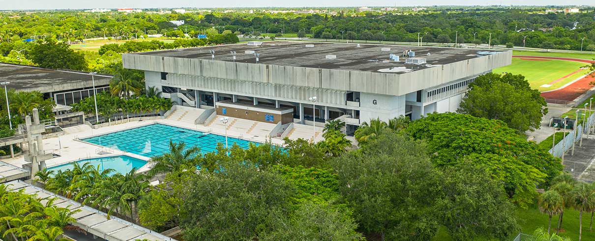
<path fill-rule="evenodd" d="M 528 142 L 498 120 L 471 115 L 430 114 L 409 124 L 407 132 L 426 140 L 438 166 L 469 160 L 486 165 L 514 202 L 525 206 L 537 195 L 536 183 L 547 183 L 562 170 L 558 158 Z"/>

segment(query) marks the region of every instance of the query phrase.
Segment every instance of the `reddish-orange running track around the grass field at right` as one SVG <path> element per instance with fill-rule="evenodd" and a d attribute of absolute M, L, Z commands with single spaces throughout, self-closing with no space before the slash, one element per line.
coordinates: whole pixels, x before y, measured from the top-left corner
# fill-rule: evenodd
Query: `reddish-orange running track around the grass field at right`
<path fill-rule="evenodd" d="M 591 64 L 595 61 L 593 60 L 582 60 L 580 58 L 563 58 L 563 57 L 546 57 L 546 56 L 525 56 L 525 55 L 513 55 L 512 58 L 533 58 L 533 59 L 541 59 L 541 60 L 566 60 L 566 61 L 575 61 L 575 62 L 584 62 L 587 64 Z M 593 76 L 586 76 L 583 79 L 577 80 L 574 83 L 569 84 L 568 86 L 562 87 L 561 89 L 550 90 L 548 92 L 541 93 L 543 98 L 547 99 L 561 99 L 564 101 L 574 101 L 574 99 L 578 98 L 578 96 L 583 95 L 583 93 L 587 92 L 587 90 L 591 89 L 591 85 L 589 83 L 595 81 L 595 77 Z"/>

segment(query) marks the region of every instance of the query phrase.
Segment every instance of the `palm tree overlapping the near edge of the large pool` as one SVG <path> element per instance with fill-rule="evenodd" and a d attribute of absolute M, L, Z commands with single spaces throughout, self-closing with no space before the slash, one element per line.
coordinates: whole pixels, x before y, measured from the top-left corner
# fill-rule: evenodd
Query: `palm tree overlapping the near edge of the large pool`
<path fill-rule="evenodd" d="M 201 149 L 192 146 L 186 150 L 186 143 L 175 143 L 170 140 L 170 152 L 151 158 L 153 168 L 148 175 L 154 177 L 158 174 L 173 173 L 181 170 L 195 170 L 198 165 Z"/>

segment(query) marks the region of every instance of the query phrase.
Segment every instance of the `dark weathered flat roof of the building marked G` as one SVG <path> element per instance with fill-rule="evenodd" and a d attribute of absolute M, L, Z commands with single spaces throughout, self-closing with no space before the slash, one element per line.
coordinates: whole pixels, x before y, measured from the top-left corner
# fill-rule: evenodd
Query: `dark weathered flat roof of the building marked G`
<path fill-rule="evenodd" d="M 390 48 L 390 50 L 386 48 Z M 215 61 L 233 62 L 234 60 L 230 51 L 235 51 L 236 62 L 255 64 L 255 55 L 249 52 L 246 53 L 246 51 L 255 51 L 260 54 L 259 64 L 396 74 L 483 57 L 497 52 L 505 52 L 468 48 L 377 45 L 373 43 L 359 43 L 358 46 L 357 43 L 270 41 L 262 42 L 262 45 L 259 46 L 239 43 L 234 45 L 140 52 L 136 54 L 211 60 L 211 53 L 209 52 L 211 50 L 215 51 Z M 415 52 L 415 58 L 424 58 L 426 64 L 406 64 L 406 58 L 403 57 L 403 54 L 408 50 Z M 399 55 L 400 60 L 389 61 L 389 54 Z M 336 59 L 327 59 L 327 55 L 336 55 Z"/>

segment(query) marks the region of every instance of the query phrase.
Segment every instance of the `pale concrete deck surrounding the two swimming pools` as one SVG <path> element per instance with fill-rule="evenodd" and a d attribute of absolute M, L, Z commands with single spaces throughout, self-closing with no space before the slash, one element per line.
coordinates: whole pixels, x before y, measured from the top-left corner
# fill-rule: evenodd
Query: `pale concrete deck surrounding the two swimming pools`
<path fill-rule="evenodd" d="M 46 161 L 47 167 L 53 167 L 55 165 L 61 165 L 68 162 L 78 161 L 80 159 L 86 158 L 96 158 L 96 157 L 108 157 L 110 155 L 129 155 L 130 157 L 139 158 L 145 161 L 148 161 L 148 157 L 143 157 L 140 155 L 130 154 L 128 152 L 119 151 L 116 149 L 105 148 L 103 146 L 93 145 L 91 143 L 83 142 L 79 139 L 84 139 L 90 136 L 96 136 L 100 134 L 107 134 L 111 132 L 118 132 L 121 130 L 132 129 L 140 126 L 145 126 L 148 124 L 167 124 L 170 126 L 177 126 L 181 128 L 191 129 L 191 130 L 198 130 L 199 132 L 210 132 L 214 134 L 225 134 L 225 129 L 223 126 L 212 125 L 212 126 L 203 126 L 203 125 L 193 125 L 183 121 L 171 120 L 171 119 L 157 119 L 157 120 L 145 120 L 145 121 L 130 121 L 124 123 L 120 123 L 120 121 L 115 122 L 112 121 L 111 126 L 101 127 L 99 129 L 92 129 L 90 126 L 81 125 L 81 126 L 74 126 L 68 127 L 64 129 L 64 134 L 58 137 L 52 137 L 43 140 L 44 149 L 49 150 L 53 149 L 54 154 L 58 154 L 61 157 L 56 157 L 49 159 Z M 233 129 L 227 130 L 227 135 L 230 137 L 236 137 L 240 139 L 249 140 L 252 142 L 261 142 L 264 143 L 268 139 L 265 136 L 243 136 L 243 133 L 237 132 Z M 274 145 L 283 145 L 283 140 L 273 138 L 271 139 L 271 143 Z M 28 149 L 26 143 L 23 143 L 25 149 Z M 104 154 L 99 155 L 98 151 L 108 149 L 111 154 Z M 17 167 L 21 167 L 26 162 L 24 161 L 24 157 L 21 155 L 20 157 L 3 159 L 2 161 L 7 162 L 8 164 L 15 165 Z M 148 165 L 139 169 L 139 172 L 149 170 Z"/>

